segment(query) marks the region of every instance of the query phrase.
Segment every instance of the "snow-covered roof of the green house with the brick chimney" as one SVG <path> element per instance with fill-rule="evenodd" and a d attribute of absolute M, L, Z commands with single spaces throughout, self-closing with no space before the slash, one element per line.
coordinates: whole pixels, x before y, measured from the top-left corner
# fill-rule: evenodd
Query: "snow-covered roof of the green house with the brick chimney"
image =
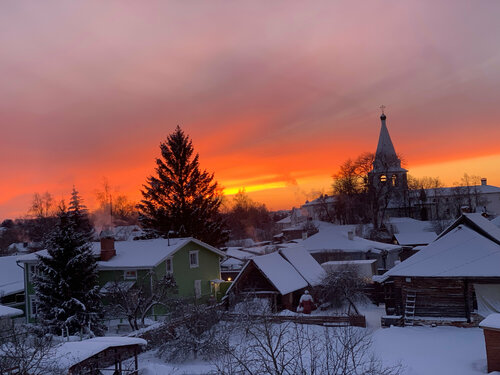
<path fill-rule="evenodd" d="M 149 269 L 157 266 L 165 258 L 173 255 L 189 242 L 194 242 L 220 256 L 225 254 L 195 238 L 173 238 L 169 241 L 164 238 L 155 238 L 152 240 L 139 240 L 139 241 L 115 241 L 116 255 L 108 261 L 97 262 L 98 268 L 105 269 Z M 92 251 L 98 256 L 101 251 L 100 242 L 92 243 Z M 36 253 L 18 257 L 19 262 L 36 262 L 38 261 L 37 255 L 47 256 L 46 250 L 41 250 Z"/>

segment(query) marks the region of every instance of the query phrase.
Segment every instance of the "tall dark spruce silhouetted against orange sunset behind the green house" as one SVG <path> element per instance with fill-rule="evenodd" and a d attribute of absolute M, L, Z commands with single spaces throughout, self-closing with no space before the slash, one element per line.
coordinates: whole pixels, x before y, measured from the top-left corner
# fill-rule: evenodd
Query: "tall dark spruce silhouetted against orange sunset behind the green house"
<path fill-rule="evenodd" d="M 200 170 L 198 154 L 179 126 L 160 144 L 156 176 L 144 185 L 138 205 L 144 228 L 167 236 L 192 236 L 218 246 L 227 239 L 219 207 L 222 193 L 214 175 Z"/>

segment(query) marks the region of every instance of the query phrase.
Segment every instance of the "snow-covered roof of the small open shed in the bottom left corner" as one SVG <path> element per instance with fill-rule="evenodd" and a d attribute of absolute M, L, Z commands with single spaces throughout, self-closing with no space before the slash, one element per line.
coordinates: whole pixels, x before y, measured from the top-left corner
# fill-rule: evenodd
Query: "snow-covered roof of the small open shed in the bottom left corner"
<path fill-rule="evenodd" d="M 135 337 L 95 337 L 84 341 L 65 342 L 53 348 L 50 358 L 58 366 L 70 368 L 106 349 L 128 345 L 145 346 L 147 341 Z"/>

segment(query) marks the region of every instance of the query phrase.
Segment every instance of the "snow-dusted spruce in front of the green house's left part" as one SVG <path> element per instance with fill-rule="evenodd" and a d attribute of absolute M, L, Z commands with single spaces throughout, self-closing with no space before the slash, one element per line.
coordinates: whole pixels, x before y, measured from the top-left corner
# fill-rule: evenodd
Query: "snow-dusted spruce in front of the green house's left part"
<path fill-rule="evenodd" d="M 45 241 L 47 255 L 39 256 L 34 279 L 38 317 L 53 333 L 99 335 L 104 326 L 100 323 L 97 262 L 92 254 L 91 231 L 82 226 L 85 215 L 80 208 L 71 205 L 69 211 L 59 215 Z"/>

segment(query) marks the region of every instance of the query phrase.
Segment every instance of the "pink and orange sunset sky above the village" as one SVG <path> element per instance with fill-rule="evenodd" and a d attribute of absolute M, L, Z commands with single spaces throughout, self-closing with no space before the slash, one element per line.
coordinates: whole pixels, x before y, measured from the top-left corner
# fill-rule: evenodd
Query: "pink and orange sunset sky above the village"
<path fill-rule="evenodd" d="M 176 125 L 227 194 L 271 209 L 375 151 L 500 185 L 500 2 L 0 3 L 0 219 L 35 192 L 132 200 Z"/>

